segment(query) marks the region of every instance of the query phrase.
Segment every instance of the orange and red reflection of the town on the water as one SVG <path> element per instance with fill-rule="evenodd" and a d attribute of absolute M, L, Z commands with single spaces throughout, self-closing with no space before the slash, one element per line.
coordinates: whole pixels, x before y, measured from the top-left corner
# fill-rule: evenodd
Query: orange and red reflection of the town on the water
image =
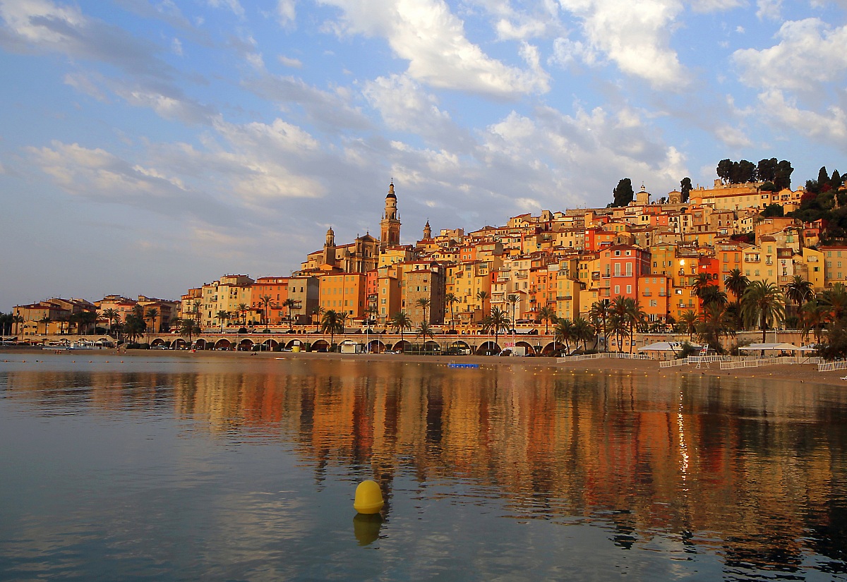
<path fill-rule="evenodd" d="M 847 396 L 833 387 L 401 361 L 150 367 L 8 369 L 0 389 L 28 414 L 173 415 L 186 436 L 283 442 L 318 491 L 339 471 L 377 480 L 389 516 L 409 473 L 422 497 L 599 525 L 623 551 L 717 554 L 727 579 L 847 572 Z M 357 516 L 353 535 L 372 544 L 383 526 Z"/>

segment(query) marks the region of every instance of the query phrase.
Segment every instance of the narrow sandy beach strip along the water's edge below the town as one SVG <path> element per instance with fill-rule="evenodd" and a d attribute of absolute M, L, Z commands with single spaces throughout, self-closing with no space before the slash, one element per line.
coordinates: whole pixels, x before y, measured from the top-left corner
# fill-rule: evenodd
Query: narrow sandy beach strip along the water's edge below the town
<path fill-rule="evenodd" d="M 778 379 L 785 382 L 798 383 L 817 383 L 826 384 L 828 386 L 844 386 L 847 388 L 847 381 L 842 380 L 842 377 L 847 376 L 847 370 L 836 371 L 817 371 L 817 365 L 813 364 L 791 364 L 791 365 L 763 365 L 758 368 L 741 368 L 738 370 L 721 370 L 717 363 L 711 365 L 703 365 L 697 368 L 695 365 L 683 365 L 673 368 L 659 368 L 659 362 L 663 360 L 626 360 L 617 358 L 602 358 L 598 360 L 583 360 L 579 362 L 571 362 L 568 364 L 559 364 L 556 358 L 545 357 L 522 357 L 522 356 L 484 356 L 484 355 L 405 355 L 405 354 L 336 354 L 324 352 L 230 352 L 230 351 L 214 351 L 203 350 L 200 352 L 191 352 L 190 350 L 148 350 L 148 349 L 130 349 L 118 352 L 116 349 L 93 349 L 79 350 L 74 352 L 60 352 L 54 354 L 51 350 L 33 349 L 33 348 L 10 348 L 5 346 L 0 349 L 0 364 L 3 360 L 9 360 L 8 356 L 14 354 L 51 354 L 51 355 L 69 355 L 69 356 L 85 356 L 85 355 L 109 355 L 121 358 L 140 358 L 155 356 L 167 356 L 175 360 L 195 360 L 197 358 L 213 358 L 215 360 L 238 360 L 241 362 L 257 359 L 257 360 L 364 360 L 364 361 L 402 361 L 416 363 L 432 363 L 432 364 L 476 364 L 485 367 L 489 366 L 538 366 L 551 368 L 556 370 L 567 371 L 631 371 L 645 373 L 647 375 L 665 376 L 667 375 L 686 375 L 699 374 L 700 376 L 716 376 L 721 378 L 767 378 L 768 376 L 777 376 Z"/>

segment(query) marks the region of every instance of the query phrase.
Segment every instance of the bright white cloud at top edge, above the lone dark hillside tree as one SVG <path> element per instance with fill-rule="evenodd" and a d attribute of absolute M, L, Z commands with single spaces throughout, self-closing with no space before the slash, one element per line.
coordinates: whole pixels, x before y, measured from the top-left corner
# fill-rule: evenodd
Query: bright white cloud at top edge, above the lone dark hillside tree
<path fill-rule="evenodd" d="M 689 75 L 668 38 L 682 12 L 679 0 L 560 0 L 562 8 L 582 19 L 591 52 L 599 51 L 625 74 L 656 89 L 680 90 Z"/>

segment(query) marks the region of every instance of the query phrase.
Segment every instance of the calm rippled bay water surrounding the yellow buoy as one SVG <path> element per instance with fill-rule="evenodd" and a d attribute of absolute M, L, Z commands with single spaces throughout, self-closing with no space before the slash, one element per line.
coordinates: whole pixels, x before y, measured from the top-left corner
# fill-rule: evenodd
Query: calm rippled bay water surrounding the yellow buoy
<path fill-rule="evenodd" d="M 0 354 L 0 579 L 847 579 L 840 387 L 197 356 Z"/>

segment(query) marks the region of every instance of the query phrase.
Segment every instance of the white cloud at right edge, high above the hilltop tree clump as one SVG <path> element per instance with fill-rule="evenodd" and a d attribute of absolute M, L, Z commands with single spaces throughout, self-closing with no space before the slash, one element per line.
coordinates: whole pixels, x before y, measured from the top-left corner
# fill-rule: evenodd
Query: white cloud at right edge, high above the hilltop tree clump
<path fill-rule="evenodd" d="M 779 28 L 777 38 L 779 44 L 761 51 L 734 52 L 746 85 L 816 91 L 822 83 L 844 78 L 847 26 L 831 28 L 817 18 L 793 20 Z"/>

